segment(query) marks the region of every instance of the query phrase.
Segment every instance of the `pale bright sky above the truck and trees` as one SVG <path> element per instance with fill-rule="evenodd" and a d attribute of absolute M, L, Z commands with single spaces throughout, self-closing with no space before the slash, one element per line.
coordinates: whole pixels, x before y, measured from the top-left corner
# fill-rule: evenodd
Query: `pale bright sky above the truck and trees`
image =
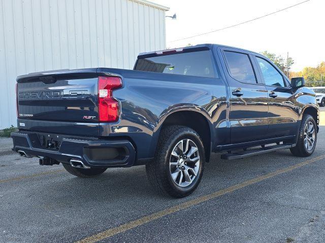
<path fill-rule="evenodd" d="M 240 26 L 172 42 L 254 19 L 304 0 L 152 0 L 170 8 L 177 19 L 166 18 L 167 48 L 187 44 L 222 44 L 254 52 L 269 51 L 295 60 L 292 71 L 325 61 L 325 0 L 310 0 L 296 7 Z"/>

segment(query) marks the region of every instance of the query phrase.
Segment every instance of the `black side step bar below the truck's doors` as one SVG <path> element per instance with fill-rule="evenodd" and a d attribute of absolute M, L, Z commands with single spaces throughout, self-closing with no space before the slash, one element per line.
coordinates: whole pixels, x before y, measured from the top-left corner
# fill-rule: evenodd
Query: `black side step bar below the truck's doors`
<path fill-rule="evenodd" d="M 274 151 L 281 150 L 281 149 L 293 148 L 295 146 L 296 146 L 296 144 L 277 144 L 277 145 L 268 146 L 268 147 L 262 146 L 262 148 L 257 148 L 257 149 L 221 154 L 221 158 L 228 159 L 228 160 L 238 159 L 238 158 L 246 158 L 246 157 L 250 157 L 253 155 L 257 155 L 257 154 L 274 152 Z"/>

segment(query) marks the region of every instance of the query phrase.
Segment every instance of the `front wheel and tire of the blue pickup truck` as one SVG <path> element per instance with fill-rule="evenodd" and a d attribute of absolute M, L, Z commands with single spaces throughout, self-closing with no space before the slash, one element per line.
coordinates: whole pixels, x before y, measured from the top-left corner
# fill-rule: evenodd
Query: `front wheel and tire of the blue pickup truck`
<path fill-rule="evenodd" d="M 311 126 L 312 130 L 310 130 Z M 303 115 L 298 136 L 296 147 L 290 148 L 291 153 L 299 157 L 310 156 L 314 152 L 317 142 L 317 126 L 311 115 Z M 312 141 L 313 143 L 311 144 Z"/>

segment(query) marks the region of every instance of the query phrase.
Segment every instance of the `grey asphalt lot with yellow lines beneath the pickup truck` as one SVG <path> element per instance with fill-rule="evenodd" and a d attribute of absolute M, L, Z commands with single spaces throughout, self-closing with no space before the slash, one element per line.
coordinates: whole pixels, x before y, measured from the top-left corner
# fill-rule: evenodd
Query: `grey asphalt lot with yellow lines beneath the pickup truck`
<path fill-rule="evenodd" d="M 325 126 L 308 158 L 213 155 L 198 189 L 157 194 L 145 167 L 81 179 L 0 139 L 0 242 L 324 242 Z"/>

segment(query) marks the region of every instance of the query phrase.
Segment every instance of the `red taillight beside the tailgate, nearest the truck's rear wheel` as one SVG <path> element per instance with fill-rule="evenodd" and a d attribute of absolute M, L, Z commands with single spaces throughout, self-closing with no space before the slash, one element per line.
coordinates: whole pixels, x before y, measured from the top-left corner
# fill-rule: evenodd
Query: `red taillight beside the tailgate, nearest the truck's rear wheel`
<path fill-rule="evenodd" d="M 99 121 L 117 121 L 119 117 L 118 102 L 112 97 L 113 90 L 122 86 L 119 77 L 98 77 L 98 113 Z"/>

